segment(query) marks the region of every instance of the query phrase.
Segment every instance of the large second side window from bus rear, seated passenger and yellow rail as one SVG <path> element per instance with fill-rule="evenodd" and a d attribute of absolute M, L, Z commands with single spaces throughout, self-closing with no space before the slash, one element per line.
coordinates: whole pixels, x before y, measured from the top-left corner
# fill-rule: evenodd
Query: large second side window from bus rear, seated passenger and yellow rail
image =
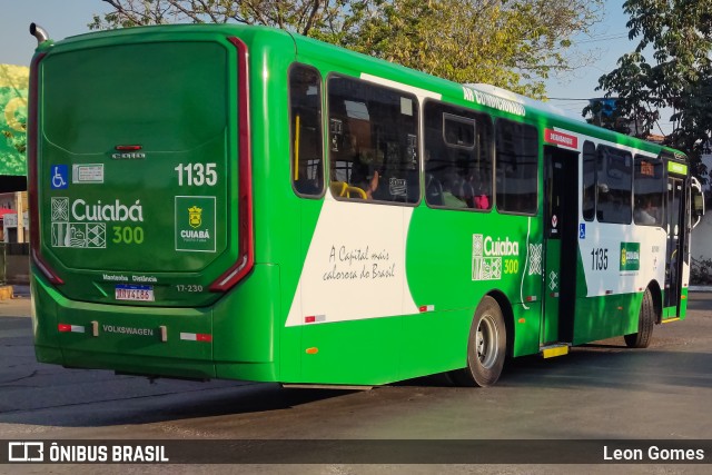
<path fill-rule="evenodd" d="M 330 189 L 336 199 L 415 204 L 419 197 L 415 96 L 328 78 Z"/>

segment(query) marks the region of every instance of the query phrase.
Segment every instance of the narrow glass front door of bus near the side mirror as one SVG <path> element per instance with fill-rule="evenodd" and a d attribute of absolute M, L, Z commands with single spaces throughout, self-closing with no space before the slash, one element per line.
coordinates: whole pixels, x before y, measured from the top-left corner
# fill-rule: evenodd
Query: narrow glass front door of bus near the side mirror
<path fill-rule="evenodd" d="M 665 300 L 664 307 L 669 314 L 663 313 L 663 319 L 674 318 L 680 315 L 680 289 L 682 284 L 682 243 L 685 232 L 684 214 L 684 180 L 678 177 L 668 177 L 666 220 L 668 250 L 665 258 Z"/>

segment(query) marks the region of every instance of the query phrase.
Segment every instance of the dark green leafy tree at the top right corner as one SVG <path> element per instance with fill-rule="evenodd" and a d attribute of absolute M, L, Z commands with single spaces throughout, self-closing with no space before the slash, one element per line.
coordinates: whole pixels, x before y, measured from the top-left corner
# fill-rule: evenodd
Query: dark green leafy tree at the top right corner
<path fill-rule="evenodd" d="M 623 10 L 637 44 L 599 79 L 599 90 L 616 96 L 620 112 L 644 129 L 655 125 L 661 108 L 672 108 L 675 128 L 666 144 L 689 152 L 703 175 L 699 157 L 712 132 L 712 2 L 627 0 Z"/>

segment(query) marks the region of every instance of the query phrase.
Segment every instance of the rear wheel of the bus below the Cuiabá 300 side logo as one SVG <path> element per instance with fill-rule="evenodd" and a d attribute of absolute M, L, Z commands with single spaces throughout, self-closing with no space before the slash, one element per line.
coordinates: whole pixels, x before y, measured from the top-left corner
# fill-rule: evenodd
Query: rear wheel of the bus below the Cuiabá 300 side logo
<path fill-rule="evenodd" d="M 477 306 L 469 328 L 467 367 L 451 372 L 451 378 L 461 386 L 494 385 L 504 367 L 506 346 L 502 309 L 497 300 L 487 296 Z"/>

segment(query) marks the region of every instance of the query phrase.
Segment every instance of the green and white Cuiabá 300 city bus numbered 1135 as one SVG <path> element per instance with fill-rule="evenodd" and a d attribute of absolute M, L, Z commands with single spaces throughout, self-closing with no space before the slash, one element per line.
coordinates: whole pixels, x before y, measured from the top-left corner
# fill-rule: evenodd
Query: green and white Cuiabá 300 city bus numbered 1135
<path fill-rule="evenodd" d="M 679 151 L 270 28 L 32 31 L 40 362 L 488 386 L 685 317 Z"/>

